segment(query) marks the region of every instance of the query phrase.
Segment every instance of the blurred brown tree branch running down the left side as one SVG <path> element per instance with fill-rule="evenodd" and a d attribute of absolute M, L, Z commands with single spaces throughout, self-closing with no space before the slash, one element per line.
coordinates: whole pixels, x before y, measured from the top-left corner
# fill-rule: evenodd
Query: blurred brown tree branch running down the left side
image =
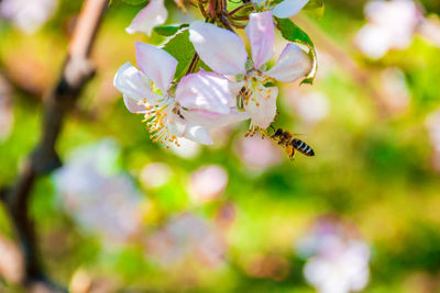
<path fill-rule="evenodd" d="M 25 272 L 22 283 L 25 286 L 43 282 L 53 291 L 58 291 L 43 273 L 34 224 L 28 212 L 29 200 L 38 176 L 61 167 L 55 149 L 56 142 L 66 114 L 74 108 L 85 83 L 95 74 L 89 56 L 106 8 L 107 0 L 85 0 L 59 80 L 45 97 L 41 140 L 15 183 L 1 194 L 24 255 Z"/>

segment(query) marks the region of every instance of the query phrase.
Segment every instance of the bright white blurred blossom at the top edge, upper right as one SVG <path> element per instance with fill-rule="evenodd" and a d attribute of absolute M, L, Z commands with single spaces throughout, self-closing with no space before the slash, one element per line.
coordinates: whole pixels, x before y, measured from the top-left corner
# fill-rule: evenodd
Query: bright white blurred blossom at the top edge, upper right
<path fill-rule="evenodd" d="M 380 59 L 389 49 L 404 49 L 413 42 L 422 13 L 413 0 L 373 0 L 365 5 L 369 21 L 354 38 L 367 57 Z"/>

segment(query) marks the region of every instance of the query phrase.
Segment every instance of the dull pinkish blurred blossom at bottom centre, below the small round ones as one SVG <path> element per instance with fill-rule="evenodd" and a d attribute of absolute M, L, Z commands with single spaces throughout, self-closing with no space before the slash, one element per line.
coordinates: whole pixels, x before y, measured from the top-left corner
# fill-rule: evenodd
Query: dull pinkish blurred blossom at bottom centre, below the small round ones
<path fill-rule="evenodd" d="M 173 218 L 147 239 L 147 253 L 162 266 L 190 258 L 207 267 L 223 263 L 227 246 L 222 235 L 201 217 L 186 213 Z"/>

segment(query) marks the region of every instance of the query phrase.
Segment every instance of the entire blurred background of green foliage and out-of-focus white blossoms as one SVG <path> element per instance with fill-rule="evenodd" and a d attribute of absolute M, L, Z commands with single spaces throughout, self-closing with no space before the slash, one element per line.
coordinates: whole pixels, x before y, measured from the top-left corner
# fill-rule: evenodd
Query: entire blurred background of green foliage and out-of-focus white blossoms
<path fill-rule="evenodd" d="M 81 2 L 1 1 L 0 187 L 40 139 Z M 199 18 L 166 4 L 169 24 Z M 439 1 L 326 0 L 322 16 L 293 19 L 319 59 L 314 86 L 279 84 L 278 125 L 316 153 L 295 161 L 245 138 L 248 122 L 210 147 L 150 140 L 112 86 L 134 41 L 164 41 L 125 33 L 143 7 L 106 12 L 64 167 L 33 191 L 53 280 L 75 293 L 440 292 Z M 24 292 L 22 274 L 0 205 L 0 292 Z"/>

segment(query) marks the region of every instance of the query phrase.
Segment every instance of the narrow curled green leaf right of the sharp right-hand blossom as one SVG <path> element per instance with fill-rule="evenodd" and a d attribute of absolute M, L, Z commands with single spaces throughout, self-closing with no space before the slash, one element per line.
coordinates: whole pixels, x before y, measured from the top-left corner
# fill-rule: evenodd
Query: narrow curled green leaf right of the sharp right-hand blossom
<path fill-rule="evenodd" d="M 309 48 L 309 56 L 312 59 L 312 67 L 310 72 L 307 75 L 306 79 L 301 83 L 314 83 L 316 72 L 318 70 L 318 60 L 315 50 L 314 42 L 310 37 L 301 30 L 298 25 L 293 23 L 289 19 L 278 19 L 276 18 L 277 27 L 279 29 L 283 37 L 293 43 L 299 43 Z"/>

